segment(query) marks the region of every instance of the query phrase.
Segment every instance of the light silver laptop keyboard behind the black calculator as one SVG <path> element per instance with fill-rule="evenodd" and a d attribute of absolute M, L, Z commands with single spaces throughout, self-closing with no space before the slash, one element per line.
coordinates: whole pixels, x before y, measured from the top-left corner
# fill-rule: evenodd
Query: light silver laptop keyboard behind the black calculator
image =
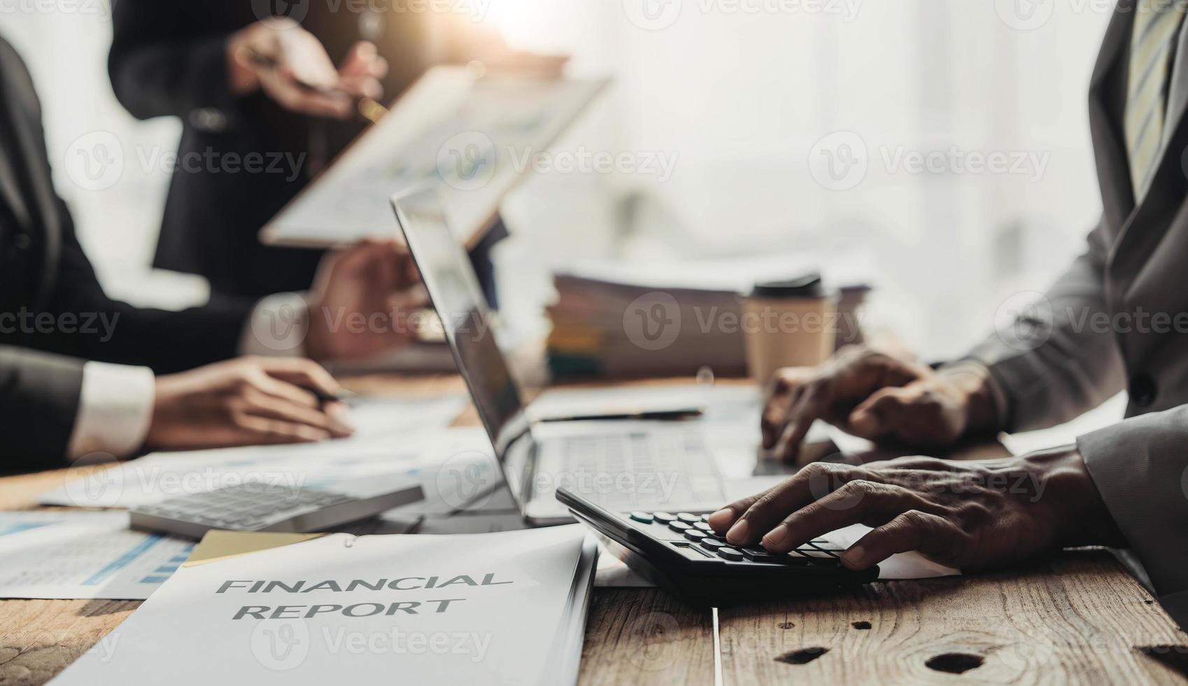
<path fill-rule="evenodd" d="M 567 436 L 544 441 L 543 449 L 546 465 L 561 465 L 574 478 L 573 491 L 609 510 L 716 504 L 726 498 L 700 429 Z M 583 474 L 589 483 L 582 482 Z"/>

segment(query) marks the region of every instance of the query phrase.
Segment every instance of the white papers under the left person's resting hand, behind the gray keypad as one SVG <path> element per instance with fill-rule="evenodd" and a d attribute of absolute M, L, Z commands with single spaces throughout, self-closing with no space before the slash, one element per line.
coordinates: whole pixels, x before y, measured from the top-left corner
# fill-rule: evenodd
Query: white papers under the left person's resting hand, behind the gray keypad
<path fill-rule="evenodd" d="M 419 467 L 422 451 L 465 407 L 460 396 L 353 398 L 358 433 L 343 440 L 154 453 L 42 493 L 43 505 L 135 508 L 246 482 L 333 487 Z"/>

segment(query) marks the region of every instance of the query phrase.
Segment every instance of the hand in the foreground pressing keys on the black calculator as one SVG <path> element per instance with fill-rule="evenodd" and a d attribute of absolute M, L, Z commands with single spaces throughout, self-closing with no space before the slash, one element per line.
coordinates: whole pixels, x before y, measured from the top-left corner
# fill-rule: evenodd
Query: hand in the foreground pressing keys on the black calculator
<path fill-rule="evenodd" d="M 817 462 L 709 517 L 731 545 L 762 541 L 781 553 L 855 523 L 874 529 L 842 555 L 853 569 L 909 550 L 980 569 L 1060 547 L 1123 545 L 1075 448 L 986 462 Z"/>

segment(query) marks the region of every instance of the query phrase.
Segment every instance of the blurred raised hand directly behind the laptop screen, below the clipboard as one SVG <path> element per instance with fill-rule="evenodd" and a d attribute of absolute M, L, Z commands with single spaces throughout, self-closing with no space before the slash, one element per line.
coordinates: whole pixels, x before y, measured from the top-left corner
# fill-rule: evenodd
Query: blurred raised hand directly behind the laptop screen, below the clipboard
<path fill-rule="evenodd" d="M 358 359 L 416 338 L 409 314 L 428 296 L 407 248 L 366 240 L 327 257 L 309 295 L 305 350 L 318 360 Z"/>

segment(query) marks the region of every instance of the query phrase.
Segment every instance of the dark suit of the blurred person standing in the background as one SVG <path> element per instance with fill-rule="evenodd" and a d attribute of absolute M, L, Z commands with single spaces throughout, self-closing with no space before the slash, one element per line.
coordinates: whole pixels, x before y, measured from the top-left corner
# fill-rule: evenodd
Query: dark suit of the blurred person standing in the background
<path fill-rule="evenodd" d="M 211 151 L 219 158 L 255 152 L 303 161 L 296 175 L 291 164 L 282 172 L 173 174 L 156 265 L 206 276 L 215 292 L 251 297 L 309 288 L 320 252 L 265 247 L 257 234 L 309 182 L 316 158 L 333 159 L 364 127 L 293 114 L 260 93 L 242 99 L 230 94 L 227 39 L 259 19 L 253 8 L 267 5 L 115 0 L 108 63 L 115 94 L 128 112 L 140 119 L 181 118 L 183 158 Z M 374 42 L 391 67 L 385 97 L 394 97 L 426 67 L 425 17 L 360 13 L 352 8 L 358 5 L 292 4 L 335 63 L 361 39 L 360 23 L 377 26 Z"/>

